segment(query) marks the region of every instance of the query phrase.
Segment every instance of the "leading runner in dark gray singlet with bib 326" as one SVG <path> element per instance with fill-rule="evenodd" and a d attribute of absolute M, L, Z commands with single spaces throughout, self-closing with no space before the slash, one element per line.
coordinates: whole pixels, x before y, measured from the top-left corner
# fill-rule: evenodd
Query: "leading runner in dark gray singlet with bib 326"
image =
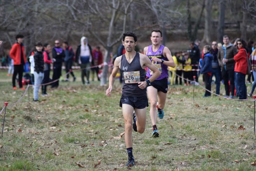
<path fill-rule="evenodd" d="M 146 107 L 148 106 L 146 86 L 160 76 L 160 71 L 152 64 L 150 59 L 134 48 L 137 44 L 137 36 L 131 31 L 123 34 L 125 54 L 115 59 L 113 71 L 109 77 L 109 88 L 106 95 L 110 97 L 118 71 L 122 71 L 123 90 L 120 99 L 125 124 L 125 145 L 128 154 L 126 166 L 134 166 L 132 154 L 132 128 L 143 133 L 146 125 Z M 150 79 L 145 80 L 145 67 L 153 71 Z M 135 115 L 133 116 L 133 111 Z"/>

